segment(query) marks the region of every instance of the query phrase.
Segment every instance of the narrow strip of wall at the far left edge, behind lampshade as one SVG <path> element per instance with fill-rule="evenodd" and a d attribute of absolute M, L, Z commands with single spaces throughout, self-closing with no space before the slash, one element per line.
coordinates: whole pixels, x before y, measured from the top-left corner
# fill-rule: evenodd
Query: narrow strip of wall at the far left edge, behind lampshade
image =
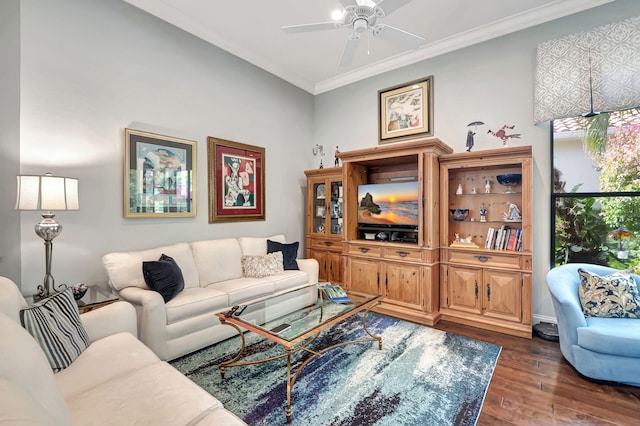
<path fill-rule="evenodd" d="M 0 275 L 20 282 L 20 214 L 14 210 L 20 172 L 19 0 L 0 2 L 0 58 Z"/>

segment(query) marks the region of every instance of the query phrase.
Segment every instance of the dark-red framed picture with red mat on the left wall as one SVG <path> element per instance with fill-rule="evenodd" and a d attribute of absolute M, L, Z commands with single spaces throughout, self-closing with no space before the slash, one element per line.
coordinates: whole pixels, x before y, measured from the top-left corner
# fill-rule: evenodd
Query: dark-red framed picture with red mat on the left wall
<path fill-rule="evenodd" d="M 265 220 L 265 149 L 209 136 L 209 223 Z"/>

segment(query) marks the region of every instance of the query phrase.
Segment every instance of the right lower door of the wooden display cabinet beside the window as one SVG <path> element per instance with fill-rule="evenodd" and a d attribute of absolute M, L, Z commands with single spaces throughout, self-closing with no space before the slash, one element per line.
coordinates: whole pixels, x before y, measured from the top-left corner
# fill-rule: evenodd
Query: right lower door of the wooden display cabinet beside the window
<path fill-rule="evenodd" d="M 522 278 L 519 272 L 484 271 L 484 315 L 522 321 Z"/>

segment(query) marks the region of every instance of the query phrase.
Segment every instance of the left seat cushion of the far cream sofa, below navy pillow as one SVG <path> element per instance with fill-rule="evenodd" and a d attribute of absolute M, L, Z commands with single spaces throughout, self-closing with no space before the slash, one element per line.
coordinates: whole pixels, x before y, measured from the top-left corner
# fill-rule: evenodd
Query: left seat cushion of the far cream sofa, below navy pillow
<path fill-rule="evenodd" d="M 211 287 L 188 288 L 167 303 L 167 324 L 221 311 L 228 306 L 229 296 L 225 292 Z"/>

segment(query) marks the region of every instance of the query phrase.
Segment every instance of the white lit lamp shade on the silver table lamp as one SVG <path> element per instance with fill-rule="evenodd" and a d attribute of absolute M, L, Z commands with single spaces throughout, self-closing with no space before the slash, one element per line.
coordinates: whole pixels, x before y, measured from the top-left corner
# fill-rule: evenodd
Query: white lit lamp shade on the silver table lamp
<path fill-rule="evenodd" d="M 60 176 L 17 176 L 17 210 L 79 210 L 78 179 Z"/>

